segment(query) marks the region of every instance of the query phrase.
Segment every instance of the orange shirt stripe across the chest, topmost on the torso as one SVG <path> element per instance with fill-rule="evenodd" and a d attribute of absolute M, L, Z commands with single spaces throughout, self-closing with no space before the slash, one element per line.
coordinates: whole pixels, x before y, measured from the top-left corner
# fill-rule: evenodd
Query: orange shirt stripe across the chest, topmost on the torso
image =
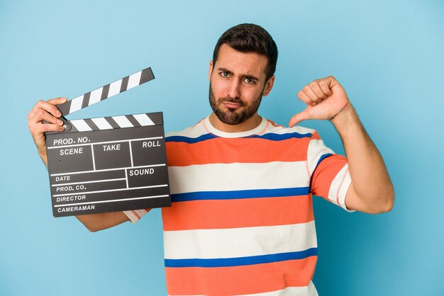
<path fill-rule="evenodd" d="M 216 138 L 195 144 L 167 142 L 167 159 L 169 166 L 306 161 L 309 141 L 304 137 L 282 141 Z"/>

